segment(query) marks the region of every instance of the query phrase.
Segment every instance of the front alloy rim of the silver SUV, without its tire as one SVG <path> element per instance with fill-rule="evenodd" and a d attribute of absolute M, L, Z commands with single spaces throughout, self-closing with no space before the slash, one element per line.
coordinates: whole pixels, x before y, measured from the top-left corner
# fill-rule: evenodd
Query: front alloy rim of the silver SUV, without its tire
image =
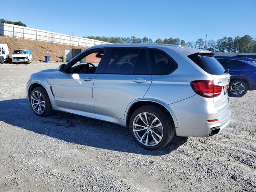
<path fill-rule="evenodd" d="M 42 114 L 45 108 L 44 96 L 39 92 L 35 91 L 31 94 L 30 103 L 32 109 L 37 114 Z"/>

